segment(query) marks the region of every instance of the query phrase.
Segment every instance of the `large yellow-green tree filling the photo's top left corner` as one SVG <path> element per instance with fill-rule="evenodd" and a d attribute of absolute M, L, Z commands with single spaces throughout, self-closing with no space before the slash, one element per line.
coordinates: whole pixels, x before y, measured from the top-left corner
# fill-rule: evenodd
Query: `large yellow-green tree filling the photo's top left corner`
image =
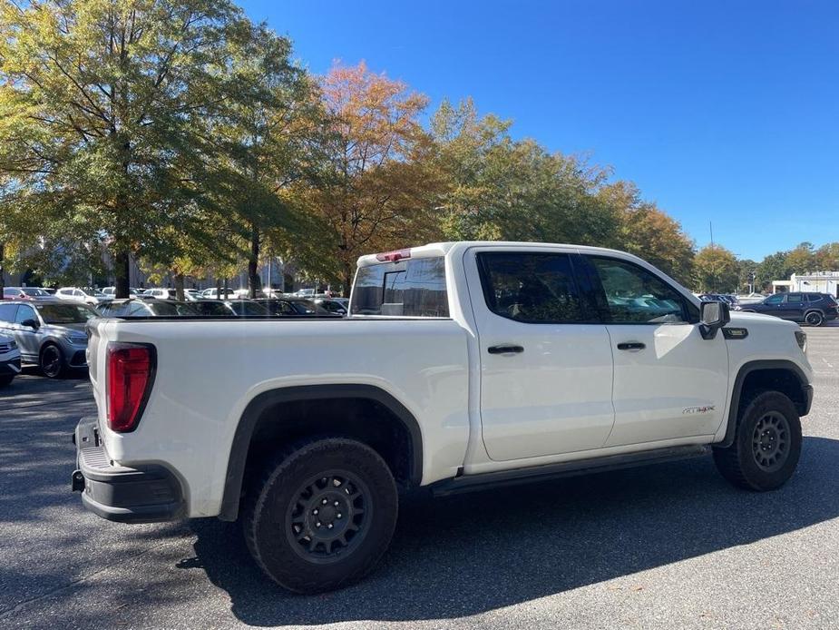
<path fill-rule="evenodd" d="M 6 2 L 0 172 L 16 212 L 39 236 L 101 242 L 127 297 L 132 256 L 163 258 L 169 230 L 206 237 L 229 212 L 213 132 L 262 96 L 241 61 L 265 44 L 288 64 L 286 41 L 228 0 Z"/>

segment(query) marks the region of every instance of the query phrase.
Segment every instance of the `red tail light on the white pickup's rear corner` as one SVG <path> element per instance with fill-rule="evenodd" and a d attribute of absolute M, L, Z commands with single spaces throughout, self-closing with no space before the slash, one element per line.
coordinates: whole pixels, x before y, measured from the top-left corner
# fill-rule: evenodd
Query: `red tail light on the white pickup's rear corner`
<path fill-rule="evenodd" d="M 140 343 L 108 344 L 108 426 L 127 433 L 137 428 L 156 363 L 154 346 Z"/>

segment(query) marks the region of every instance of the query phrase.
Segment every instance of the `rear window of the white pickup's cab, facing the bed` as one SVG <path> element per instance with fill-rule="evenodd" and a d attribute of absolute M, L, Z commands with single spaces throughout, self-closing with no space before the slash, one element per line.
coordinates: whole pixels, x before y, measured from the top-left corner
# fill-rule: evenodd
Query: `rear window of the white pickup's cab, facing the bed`
<path fill-rule="evenodd" d="M 353 315 L 449 317 L 443 258 L 416 258 L 362 267 L 350 304 Z"/>

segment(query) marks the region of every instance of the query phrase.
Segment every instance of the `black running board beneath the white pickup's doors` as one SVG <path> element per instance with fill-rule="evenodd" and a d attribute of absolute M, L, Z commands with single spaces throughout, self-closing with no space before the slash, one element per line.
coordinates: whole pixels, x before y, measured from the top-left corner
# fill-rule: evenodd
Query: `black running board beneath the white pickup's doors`
<path fill-rule="evenodd" d="M 461 475 L 452 479 L 444 479 L 431 484 L 431 491 L 435 497 L 483 490 L 487 487 L 513 486 L 517 484 L 546 481 L 560 477 L 576 477 L 590 473 L 634 468 L 648 464 L 660 464 L 666 461 L 701 457 L 710 453 L 707 445 L 690 445 L 687 447 L 657 448 L 639 453 L 623 453 L 609 455 L 603 458 L 578 459 L 564 461 L 558 464 L 545 464 L 530 468 L 514 468 L 512 470 L 498 470 L 477 475 Z"/>

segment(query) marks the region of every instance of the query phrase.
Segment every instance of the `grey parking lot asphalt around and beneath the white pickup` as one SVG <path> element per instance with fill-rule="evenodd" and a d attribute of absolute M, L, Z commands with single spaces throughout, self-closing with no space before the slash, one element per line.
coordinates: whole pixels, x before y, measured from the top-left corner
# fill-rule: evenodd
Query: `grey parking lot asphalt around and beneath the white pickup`
<path fill-rule="evenodd" d="M 293 596 L 238 524 L 109 523 L 70 492 L 87 380 L 0 391 L 0 628 L 839 626 L 839 327 L 808 329 L 795 477 L 753 494 L 710 458 L 410 497 L 365 582 Z M 208 384 L 212 387 L 212 384 Z"/>

